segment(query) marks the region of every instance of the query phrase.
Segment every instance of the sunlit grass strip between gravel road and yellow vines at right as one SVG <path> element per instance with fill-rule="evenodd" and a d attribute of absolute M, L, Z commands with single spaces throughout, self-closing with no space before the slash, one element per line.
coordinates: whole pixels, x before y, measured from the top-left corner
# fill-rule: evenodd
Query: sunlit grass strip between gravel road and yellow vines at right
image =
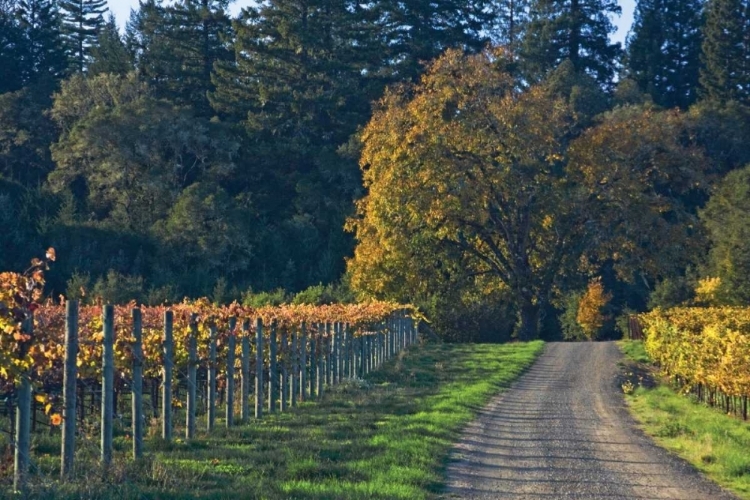
<path fill-rule="evenodd" d="M 619 343 L 626 359 L 648 360 L 641 342 Z M 631 372 L 632 373 L 632 372 Z M 657 380 L 626 396 L 643 430 L 662 447 L 693 464 L 709 478 L 750 499 L 750 424 L 724 415 Z"/>

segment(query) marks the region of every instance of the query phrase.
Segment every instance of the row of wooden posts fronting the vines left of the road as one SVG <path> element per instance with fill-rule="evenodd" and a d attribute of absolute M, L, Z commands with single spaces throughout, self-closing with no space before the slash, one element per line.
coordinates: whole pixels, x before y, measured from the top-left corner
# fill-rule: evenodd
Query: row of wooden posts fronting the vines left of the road
<path fill-rule="evenodd" d="M 128 317 L 123 317 L 125 309 L 120 307 L 117 317 L 113 306 L 101 306 L 97 309 L 101 310 L 100 323 L 94 318 L 101 325 L 100 332 L 79 338 L 79 306 L 67 302 L 62 379 L 50 373 L 41 387 L 37 381 L 35 394 L 30 378 L 23 377 L 6 394 L 16 491 L 22 492 L 28 479 L 31 432 L 39 425 L 54 432 L 53 425 L 39 419 L 47 405 L 47 410 L 51 406 L 61 410 L 60 475 L 64 480 L 74 467 L 80 426 L 92 416 L 100 429 L 101 464 L 108 467 L 115 424 L 128 430 L 132 457 L 139 459 L 144 453 L 147 417 L 159 421 L 165 441 L 173 439 L 177 413 L 183 411 L 188 440 L 196 435 L 199 415 L 205 416 L 206 431 L 214 429 L 220 405 L 227 427 L 235 425 L 238 416 L 245 422 L 260 419 L 264 411 L 285 411 L 297 402 L 322 397 L 328 387 L 346 378 L 363 377 L 416 343 L 418 335 L 417 323 L 406 310 L 356 327 L 343 321 L 294 324 L 233 316 L 201 319 L 193 313 L 181 323 L 184 326 L 176 341 L 174 312 L 162 309 L 156 329 L 153 318 L 144 325 L 140 308 L 130 309 Z M 94 320 L 89 317 L 86 324 Z M 118 338 L 118 332 L 127 338 Z M 144 345 L 153 350 L 154 344 L 158 353 L 144 355 Z M 98 349 L 97 366 L 79 366 L 82 351 L 99 356 Z M 92 360 L 86 358 L 86 363 Z M 124 397 L 128 393 L 130 398 Z"/>

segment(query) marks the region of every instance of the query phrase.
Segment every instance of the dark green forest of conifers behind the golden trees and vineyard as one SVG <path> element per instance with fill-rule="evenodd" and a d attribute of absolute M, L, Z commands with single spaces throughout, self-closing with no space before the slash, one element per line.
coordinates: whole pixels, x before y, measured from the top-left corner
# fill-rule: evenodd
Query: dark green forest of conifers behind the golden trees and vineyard
<path fill-rule="evenodd" d="M 150 303 L 348 283 L 372 104 L 451 48 L 503 47 L 492 64 L 518 89 L 556 80 L 575 114 L 564 144 L 635 105 L 682 110 L 717 175 L 750 154 L 746 0 L 641 0 L 624 48 L 614 0 L 227 8 L 146 0 L 121 33 L 101 0 L 0 1 L 0 267 L 54 245 L 56 293 Z M 693 195 L 686 213 L 705 201 Z M 637 303 L 670 273 L 610 281 Z M 455 305 L 453 324 L 513 307 L 469 300 L 473 283 L 420 300 Z M 467 316 L 480 303 L 494 312 Z"/>

